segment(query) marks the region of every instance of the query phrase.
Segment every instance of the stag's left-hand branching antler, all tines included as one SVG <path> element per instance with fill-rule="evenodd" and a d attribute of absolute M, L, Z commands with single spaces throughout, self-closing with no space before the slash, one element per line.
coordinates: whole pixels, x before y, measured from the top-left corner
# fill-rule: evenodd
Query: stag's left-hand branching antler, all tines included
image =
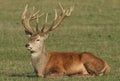
<path fill-rule="evenodd" d="M 39 32 L 39 29 L 38 29 L 38 21 L 39 20 L 38 19 L 39 19 L 39 17 L 41 17 L 43 15 L 43 13 L 41 15 L 38 15 L 39 11 L 37 11 L 37 12 L 34 13 L 35 8 L 33 7 L 32 11 L 30 13 L 30 17 L 27 18 L 26 17 L 27 10 L 28 10 L 28 5 L 25 6 L 25 9 L 24 9 L 23 14 L 22 14 L 22 24 L 23 24 L 23 26 L 25 28 L 25 32 L 27 34 L 32 35 L 35 32 L 32 29 L 32 27 L 30 26 L 30 21 L 36 19 L 36 31 Z"/>

